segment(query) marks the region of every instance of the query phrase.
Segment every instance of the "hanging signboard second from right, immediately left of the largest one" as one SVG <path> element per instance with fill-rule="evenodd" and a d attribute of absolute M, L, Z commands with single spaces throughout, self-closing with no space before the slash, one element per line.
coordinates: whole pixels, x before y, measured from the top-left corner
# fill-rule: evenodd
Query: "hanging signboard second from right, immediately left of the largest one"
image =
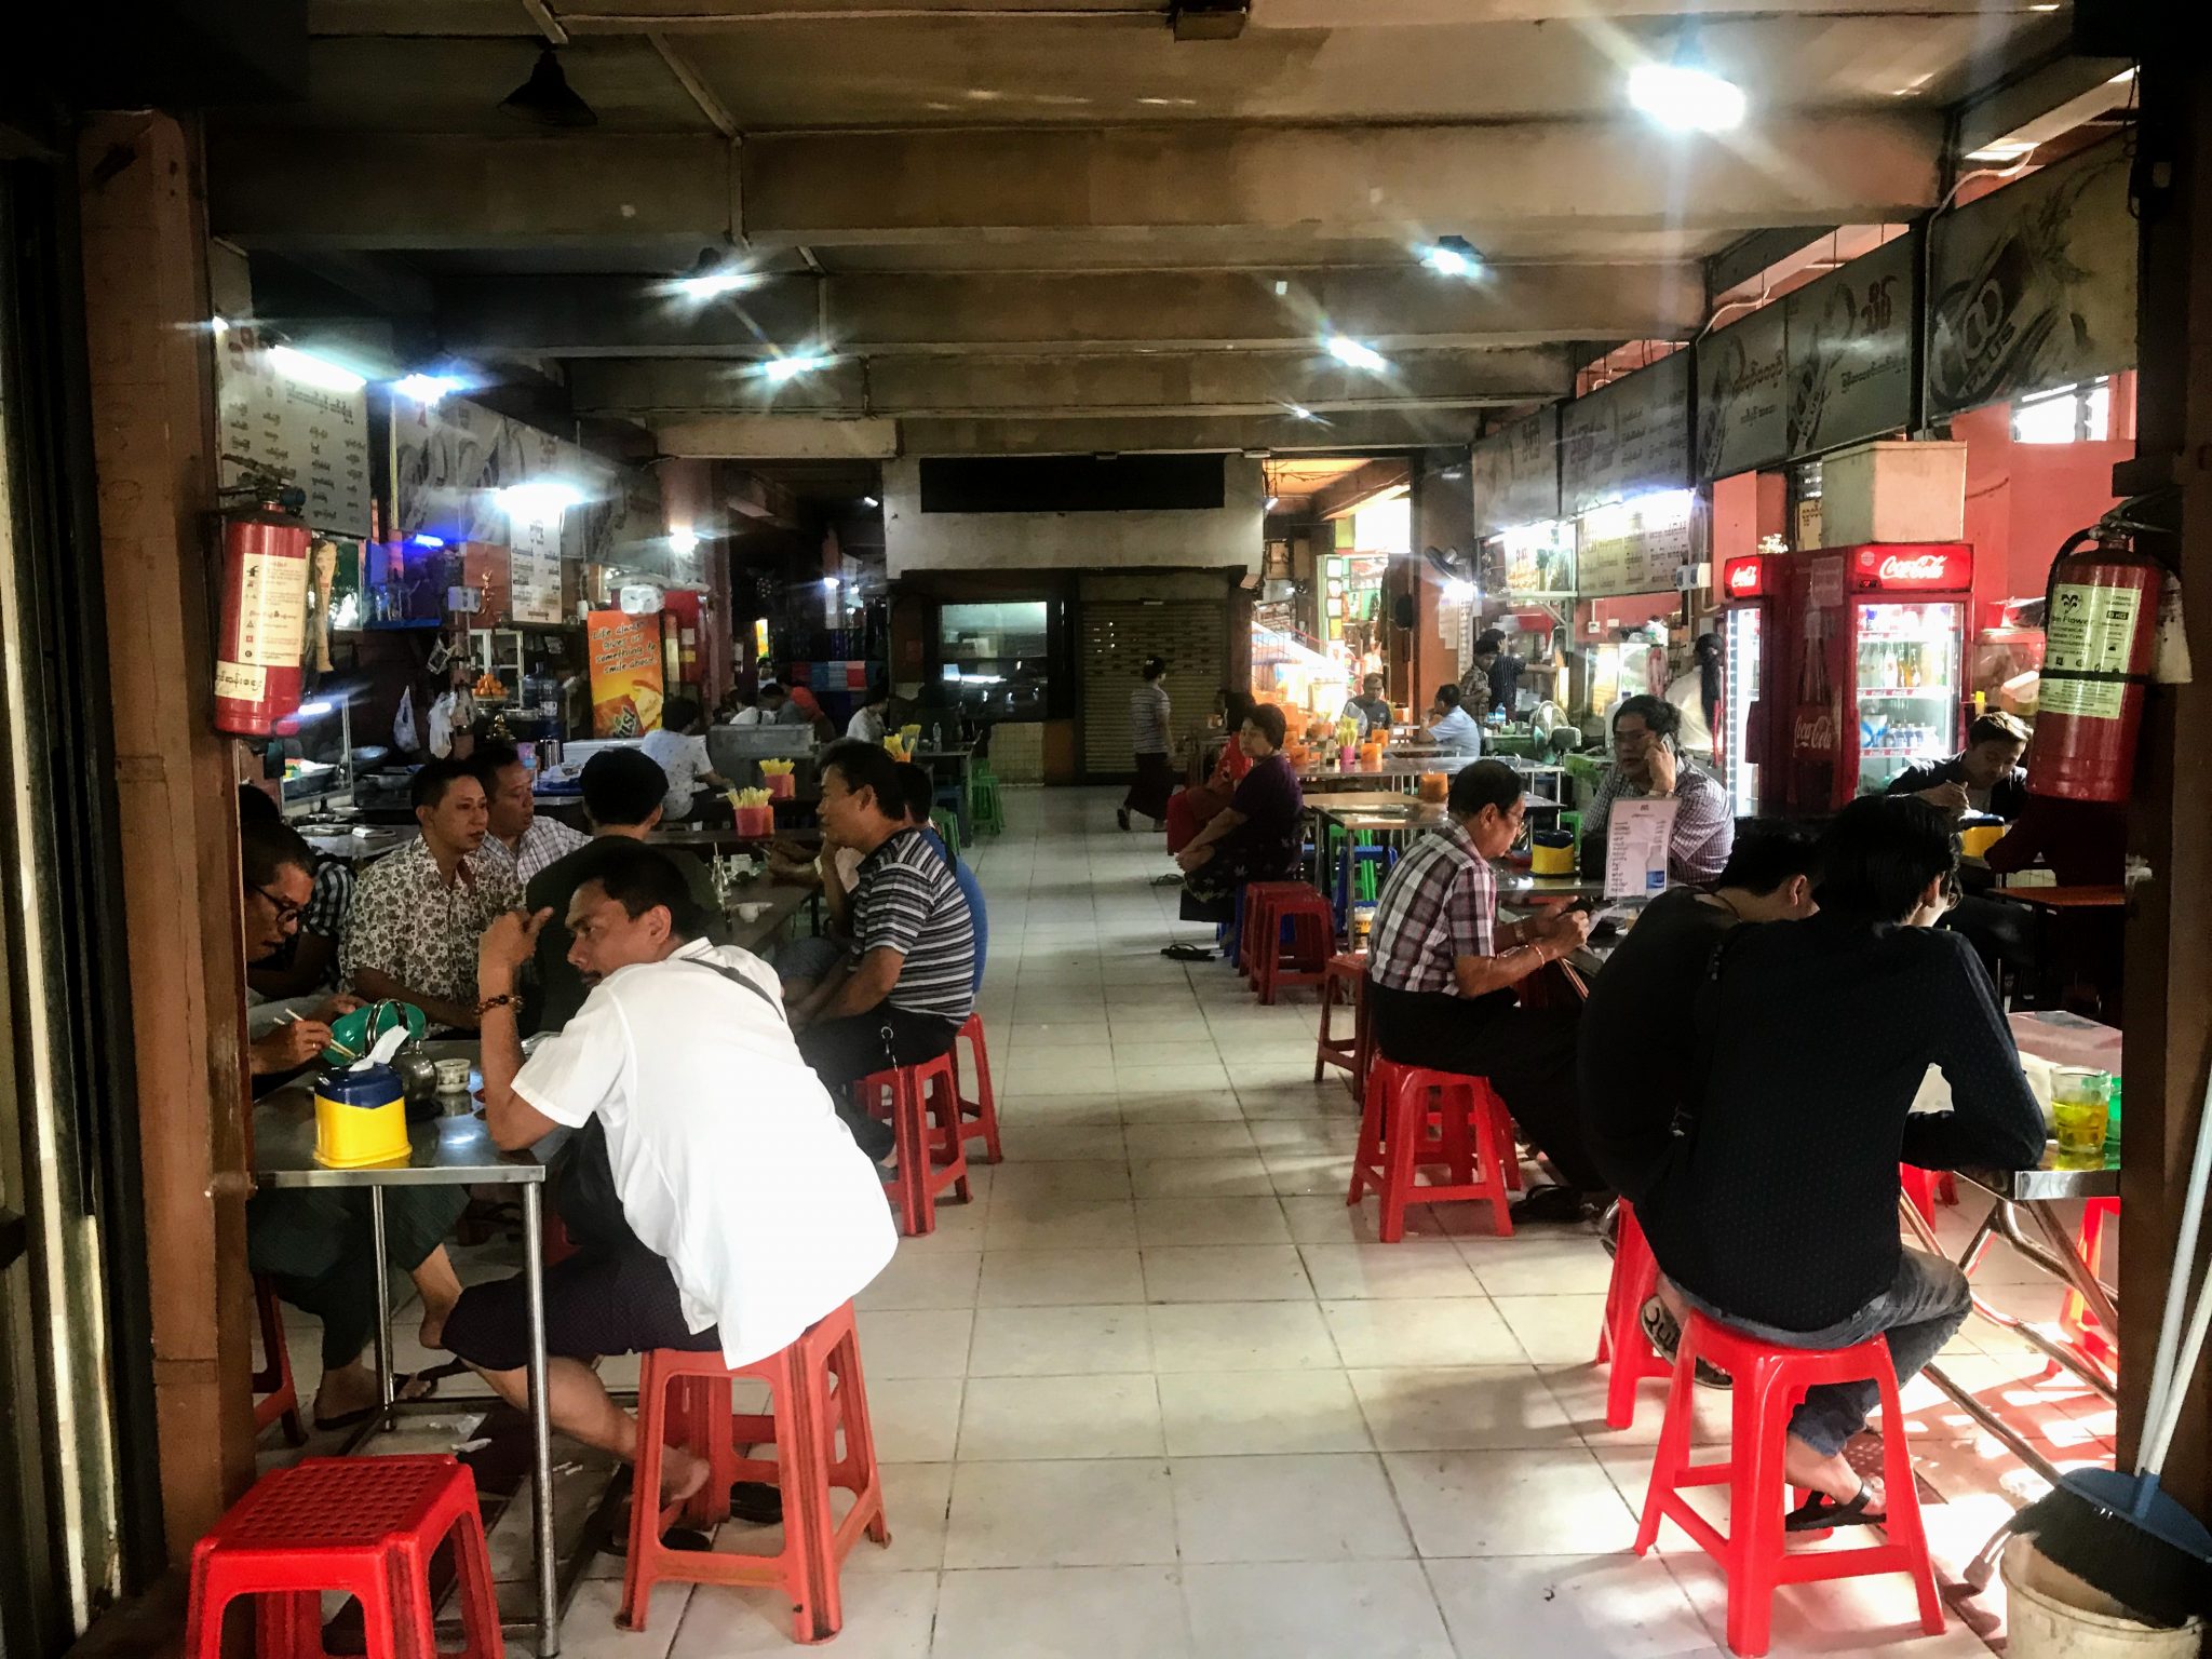
<path fill-rule="evenodd" d="M 1913 422 L 1918 272 L 1920 232 L 1911 232 L 1781 303 L 1790 334 L 1790 460 Z"/>

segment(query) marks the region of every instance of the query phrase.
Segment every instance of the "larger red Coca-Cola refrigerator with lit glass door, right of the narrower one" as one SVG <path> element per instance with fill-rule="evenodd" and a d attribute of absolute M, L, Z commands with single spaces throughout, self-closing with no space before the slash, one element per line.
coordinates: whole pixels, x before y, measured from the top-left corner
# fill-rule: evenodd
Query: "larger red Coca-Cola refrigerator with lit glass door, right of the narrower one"
<path fill-rule="evenodd" d="M 1836 812 L 1955 754 L 1973 549 L 1874 542 L 1778 566 L 1794 630 L 1790 807 Z"/>

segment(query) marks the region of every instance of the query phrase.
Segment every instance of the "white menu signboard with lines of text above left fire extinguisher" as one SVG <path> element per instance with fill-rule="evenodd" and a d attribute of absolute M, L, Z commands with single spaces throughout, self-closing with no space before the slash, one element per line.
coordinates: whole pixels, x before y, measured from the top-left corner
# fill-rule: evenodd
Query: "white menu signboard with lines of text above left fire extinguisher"
<path fill-rule="evenodd" d="M 305 491 L 312 529 L 365 540 L 369 533 L 369 394 L 303 385 L 276 372 L 279 341 L 232 323 L 215 354 L 223 489 L 248 473 L 276 473 Z"/>

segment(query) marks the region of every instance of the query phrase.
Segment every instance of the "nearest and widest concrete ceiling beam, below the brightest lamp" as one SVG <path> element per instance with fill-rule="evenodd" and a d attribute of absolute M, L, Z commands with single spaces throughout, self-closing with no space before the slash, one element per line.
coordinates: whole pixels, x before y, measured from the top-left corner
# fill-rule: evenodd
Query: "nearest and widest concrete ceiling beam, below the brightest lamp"
<path fill-rule="evenodd" d="M 1936 201 L 1933 113 L 1796 115 L 1728 139 L 1641 122 L 1197 126 L 721 137 L 228 133 L 208 217 L 243 246 L 509 248 L 655 237 L 883 246 L 1500 226 L 1880 221 Z M 741 177 L 739 177 L 741 175 Z M 743 204 L 743 208 L 739 208 Z M 1009 261 L 1018 254 L 1009 250 Z M 1110 261 L 1110 252 L 1104 254 Z"/>

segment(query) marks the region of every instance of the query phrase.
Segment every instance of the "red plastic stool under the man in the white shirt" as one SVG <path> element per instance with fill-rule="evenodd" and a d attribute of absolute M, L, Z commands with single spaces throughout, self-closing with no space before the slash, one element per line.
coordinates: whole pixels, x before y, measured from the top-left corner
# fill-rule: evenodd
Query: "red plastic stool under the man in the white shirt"
<path fill-rule="evenodd" d="M 734 1409 L 730 1385 L 741 1376 L 768 1383 L 772 1416 Z M 776 1444 L 772 1460 L 739 1455 L 739 1447 L 763 1440 Z M 684 1447 L 708 1460 L 706 1484 L 688 1502 L 661 1506 L 646 1498 L 661 1489 L 664 1447 Z M 672 1551 L 661 1542 L 679 1517 L 703 1526 L 728 1520 L 734 1480 L 768 1480 L 783 1493 L 783 1546 L 774 1555 Z M 834 1486 L 854 1495 L 843 1520 L 830 1504 Z M 641 1358 L 630 1553 L 622 1575 L 624 1628 L 644 1630 L 653 1586 L 675 1579 L 781 1588 L 792 1599 L 794 1641 L 834 1637 L 845 1624 L 838 1566 L 860 1533 L 878 1544 L 891 1542 L 852 1303 L 752 1365 L 732 1367 L 721 1354 L 670 1347 Z"/>

